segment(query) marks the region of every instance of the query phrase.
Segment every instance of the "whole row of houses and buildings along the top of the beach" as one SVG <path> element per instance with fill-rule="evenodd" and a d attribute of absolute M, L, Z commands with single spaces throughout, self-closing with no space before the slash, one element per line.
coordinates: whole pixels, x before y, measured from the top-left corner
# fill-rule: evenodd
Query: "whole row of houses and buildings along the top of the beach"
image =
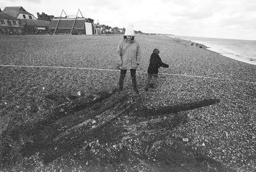
<path fill-rule="evenodd" d="M 0 34 L 105 35 L 109 31 L 111 27 L 100 25 L 99 20 L 97 24 L 94 24 L 93 19 L 84 18 L 83 15 L 82 17 L 77 17 L 77 15 L 54 17 L 44 12 L 42 14 L 37 12 L 36 19 L 22 6 L 5 7 L 3 11 L 0 8 Z"/>

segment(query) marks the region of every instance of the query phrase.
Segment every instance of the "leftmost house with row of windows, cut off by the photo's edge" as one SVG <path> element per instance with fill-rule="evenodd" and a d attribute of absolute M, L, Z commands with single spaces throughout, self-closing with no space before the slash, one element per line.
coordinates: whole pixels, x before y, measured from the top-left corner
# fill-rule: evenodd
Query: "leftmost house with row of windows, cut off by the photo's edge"
<path fill-rule="evenodd" d="M 20 19 L 3 13 L 0 8 L 0 34 L 21 34 L 22 28 Z"/>

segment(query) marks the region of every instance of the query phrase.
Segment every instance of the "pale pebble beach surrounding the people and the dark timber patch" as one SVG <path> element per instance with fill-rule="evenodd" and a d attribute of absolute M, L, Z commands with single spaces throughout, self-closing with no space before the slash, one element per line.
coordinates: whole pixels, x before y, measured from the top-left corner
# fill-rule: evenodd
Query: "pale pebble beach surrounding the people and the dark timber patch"
<path fill-rule="evenodd" d="M 0 117 L 34 120 L 52 108 L 44 100 L 46 94 L 90 94 L 118 87 L 116 46 L 121 39 L 123 35 L 2 35 Z M 164 35 L 135 35 L 135 39 L 142 49 L 136 73 L 141 105 L 158 108 L 220 100 L 212 106 L 179 112 L 188 120 L 168 132 L 181 142 L 188 138 L 188 147 L 223 166 L 255 171 L 256 65 Z M 170 67 L 160 68 L 158 87 L 145 91 L 154 48 Z M 124 89 L 131 87 L 127 72 Z M 20 168 L 16 164 L 14 169 Z"/>

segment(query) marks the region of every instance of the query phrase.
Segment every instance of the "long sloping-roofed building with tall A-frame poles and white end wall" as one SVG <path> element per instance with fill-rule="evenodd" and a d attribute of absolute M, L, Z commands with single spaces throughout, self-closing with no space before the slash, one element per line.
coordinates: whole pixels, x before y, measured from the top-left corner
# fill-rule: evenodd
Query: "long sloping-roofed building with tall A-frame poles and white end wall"
<path fill-rule="evenodd" d="M 70 35 L 93 35 L 94 20 L 91 18 L 77 17 L 73 15 L 56 17 L 52 19 L 49 26 L 50 34 L 70 34 Z"/>

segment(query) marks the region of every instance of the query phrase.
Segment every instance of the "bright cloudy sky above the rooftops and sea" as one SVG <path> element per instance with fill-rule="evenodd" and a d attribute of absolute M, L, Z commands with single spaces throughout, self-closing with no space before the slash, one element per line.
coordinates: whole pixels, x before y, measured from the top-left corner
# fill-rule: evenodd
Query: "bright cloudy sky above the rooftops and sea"
<path fill-rule="evenodd" d="M 22 6 L 36 18 L 36 12 L 58 17 L 62 9 L 67 15 L 80 9 L 94 23 L 133 23 L 145 33 L 256 40 L 254 0 L 1 0 L 0 8 L 6 6 Z"/>

